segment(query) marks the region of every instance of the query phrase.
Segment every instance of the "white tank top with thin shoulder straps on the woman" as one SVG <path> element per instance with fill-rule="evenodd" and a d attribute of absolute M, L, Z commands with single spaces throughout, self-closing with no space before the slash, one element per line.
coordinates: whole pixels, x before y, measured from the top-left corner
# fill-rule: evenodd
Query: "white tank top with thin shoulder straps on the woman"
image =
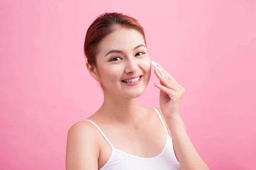
<path fill-rule="evenodd" d="M 160 116 L 160 113 L 156 108 L 154 108 L 154 110 L 166 130 L 167 138 L 161 153 L 153 158 L 134 156 L 116 149 L 108 140 L 107 136 L 105 136 L 102 130 L 93 121 L 85 119 L 99 129 L 102 136 L 104 136 L 112 148 L 110 158 L 99 170 L 180 170 L 180 164 L 177 161 L 173 150 L 172 138 L 168 134 L 162 116 Z"/>

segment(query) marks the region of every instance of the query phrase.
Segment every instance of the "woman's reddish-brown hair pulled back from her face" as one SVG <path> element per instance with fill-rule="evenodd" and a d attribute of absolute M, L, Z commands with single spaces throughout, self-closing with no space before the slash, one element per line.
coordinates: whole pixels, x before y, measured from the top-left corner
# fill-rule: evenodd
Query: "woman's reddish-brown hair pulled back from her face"
<path fill-rule="evenodd" d="M 146 45 L 143 27 L 136 19 L 122 13 L 103 13 L 93 21 L 85 36 L 84 55 L 90 65 L 96 66 L 96 53 L 99 42 L 108 34 L 113 32 L 116 26 L 139 31 L 143 35 Z"/>

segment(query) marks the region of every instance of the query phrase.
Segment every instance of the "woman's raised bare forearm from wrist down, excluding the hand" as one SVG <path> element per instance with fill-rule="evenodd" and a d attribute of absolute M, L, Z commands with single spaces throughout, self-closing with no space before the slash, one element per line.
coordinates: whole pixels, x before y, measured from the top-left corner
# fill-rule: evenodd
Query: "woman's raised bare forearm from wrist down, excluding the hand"
<path fill-rule="evenodd" d="M 189 139 L 181 116 L 166 119 L 181 170 L 209 170 Z"/>

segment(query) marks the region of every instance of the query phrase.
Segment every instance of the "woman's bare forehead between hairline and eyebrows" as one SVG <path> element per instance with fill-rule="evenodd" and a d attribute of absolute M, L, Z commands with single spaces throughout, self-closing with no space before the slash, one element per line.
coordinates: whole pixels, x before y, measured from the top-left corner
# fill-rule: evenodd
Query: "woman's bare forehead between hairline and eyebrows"
<path fill-rule="evenodd" d="M 144 44 L 143 35 L 135 29 L 118 28 L 108 34 L 99 43 L 99 53 L 107 53 L 110 50 L 131 51 L 137 45 Z"/>

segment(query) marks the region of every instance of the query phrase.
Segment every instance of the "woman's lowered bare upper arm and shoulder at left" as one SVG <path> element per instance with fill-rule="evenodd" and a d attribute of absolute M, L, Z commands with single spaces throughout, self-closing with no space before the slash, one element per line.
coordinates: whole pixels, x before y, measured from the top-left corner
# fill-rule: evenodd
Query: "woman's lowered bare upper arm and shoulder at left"
<path fill-rule="evenodd" d="M 67 134 L 66 170 L 98 170 L 99 146 L 93 125 L 77 122 Z"/>

